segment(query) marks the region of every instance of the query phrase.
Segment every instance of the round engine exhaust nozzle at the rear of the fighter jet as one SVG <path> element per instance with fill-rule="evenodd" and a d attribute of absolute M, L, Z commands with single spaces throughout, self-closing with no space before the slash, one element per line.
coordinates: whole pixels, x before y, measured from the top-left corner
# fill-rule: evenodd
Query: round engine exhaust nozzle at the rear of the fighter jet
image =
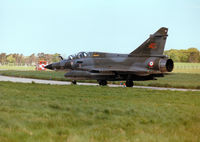
<path fill-rule="evenodd" d="M 160 60 L 159 69 L 161 72 L 172 72 L 174 68 L 174 62 L 172 59 Z"/>

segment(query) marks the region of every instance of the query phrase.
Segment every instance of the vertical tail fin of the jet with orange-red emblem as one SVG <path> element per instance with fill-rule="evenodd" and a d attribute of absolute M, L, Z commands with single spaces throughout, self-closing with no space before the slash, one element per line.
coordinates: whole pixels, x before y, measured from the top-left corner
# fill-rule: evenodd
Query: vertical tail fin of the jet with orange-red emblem
<path fill-rule="evenodd" d="M 163 55 L 168 29 L 160 28 L 157 32 L 142 43 L 137 49 L 131 52 L 130 56 L 159 56 Z"/>

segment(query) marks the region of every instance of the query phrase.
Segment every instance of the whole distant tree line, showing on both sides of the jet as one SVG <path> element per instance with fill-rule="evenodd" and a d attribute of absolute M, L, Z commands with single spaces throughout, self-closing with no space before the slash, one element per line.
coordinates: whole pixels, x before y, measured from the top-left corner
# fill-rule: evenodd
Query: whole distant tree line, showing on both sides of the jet
<path fill-rule="evenodd" d="M 169 56 L 174 62 L 200 62 L 200 51 L 197 48 L 189 49 L 170 49 L 164 52 L 165 55 Z M 16 64 L 16 65 L 36 65 L 38 61 L 47 61 L 48 63 L 58 62 L 60 54 L 31 54 L 30 56 L 24 56 L 23 54 L 0 54 L 0 64 Z"/>

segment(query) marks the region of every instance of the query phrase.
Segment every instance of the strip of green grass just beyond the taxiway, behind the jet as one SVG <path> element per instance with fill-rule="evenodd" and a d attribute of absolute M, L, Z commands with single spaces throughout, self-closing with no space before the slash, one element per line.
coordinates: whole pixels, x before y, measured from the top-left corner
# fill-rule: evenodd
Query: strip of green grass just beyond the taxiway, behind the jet
<path fill-rule="evenodd" d="M 45 71 L 0 71 L 0 74 L 7 76 L 38 78 L 47 80 L 61 80 L 69 81 L 64 78 L 65 72 L 45 72 Z M 142 86 L 157 86 L 157 87 L 174 87 L 174 88 L 191 88 L 200 89 L 200 74 L 193 73 L 170 73 L 165 77 L 157 78 L 153 81 L 135 81 L 135 85 Z M 84 81 L 82 81 L 84 82 Z M 97 81 L 85 81 L 85 82 L 97 82 Z M 119 82 L 110 82 L 117 83 Z"/>

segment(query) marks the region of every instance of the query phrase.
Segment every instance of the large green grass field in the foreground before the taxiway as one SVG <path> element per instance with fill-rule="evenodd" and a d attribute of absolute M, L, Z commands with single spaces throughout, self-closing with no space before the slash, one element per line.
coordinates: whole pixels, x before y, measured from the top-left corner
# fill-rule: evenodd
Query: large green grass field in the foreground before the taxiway
<path fill-rule="evenodd" d="M 0 141 L 199 142 L 199 92 L 0 82 Z"/>

